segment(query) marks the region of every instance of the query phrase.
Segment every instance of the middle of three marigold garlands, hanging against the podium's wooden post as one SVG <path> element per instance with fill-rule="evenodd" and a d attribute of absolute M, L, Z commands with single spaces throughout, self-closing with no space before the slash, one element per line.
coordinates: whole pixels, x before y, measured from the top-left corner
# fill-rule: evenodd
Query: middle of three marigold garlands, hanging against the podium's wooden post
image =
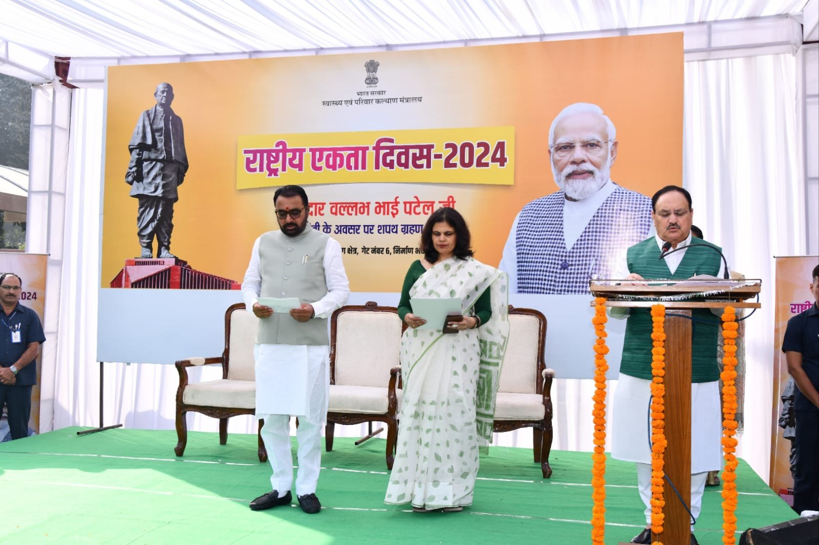
<path fill-rule="evenodd" d="M 663 498 L 663 477 L 665 471 L 665 305 L 654 304 L 651 307 L 651 531 L 663 533 L 665 499 Z M 654 545 L 662 545 L 655 541 Z"/>

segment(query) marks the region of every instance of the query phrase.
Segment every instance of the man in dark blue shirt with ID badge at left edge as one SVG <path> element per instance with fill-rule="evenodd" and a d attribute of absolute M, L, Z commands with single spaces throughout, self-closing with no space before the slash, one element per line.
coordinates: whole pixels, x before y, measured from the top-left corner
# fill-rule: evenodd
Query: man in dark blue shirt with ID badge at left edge
<path fill-rule="evenodd" d="M 11 439 L 28 435 L 34 360 L 46 340 L 37 313 L 19 303 L 22 283 L 14 272 L 0 275 L 0 407 L 8 408 Z"/>

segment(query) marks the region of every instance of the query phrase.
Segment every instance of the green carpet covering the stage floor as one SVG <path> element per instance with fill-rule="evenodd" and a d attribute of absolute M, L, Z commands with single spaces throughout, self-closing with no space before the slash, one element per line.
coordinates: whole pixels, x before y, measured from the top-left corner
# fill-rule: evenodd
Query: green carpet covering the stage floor
<path fill-rule="evenodd" d="M 0 444 L 0 543 L 589 543 L 589 453 L 553 451 L 541 478 L 532 451 L 491 448 L 475 502 L 460 513 L 420 514 L 383 504 L 383 439 L 356 447 L 336 439 L 324 453 L 318 515 L 295 507 L 251 511 L 269 490 L 256 435 L 191 433 L 174 456 L 170 430 L 66 428 Z M 744 462 L 737 471 L 738 529 L 776 524 L 794 512 Z M 609 460 L 606 543 L 641 528 L 634 465 Z M 719 490 L 706 489 L 699 543 L 722 543 Z"/>

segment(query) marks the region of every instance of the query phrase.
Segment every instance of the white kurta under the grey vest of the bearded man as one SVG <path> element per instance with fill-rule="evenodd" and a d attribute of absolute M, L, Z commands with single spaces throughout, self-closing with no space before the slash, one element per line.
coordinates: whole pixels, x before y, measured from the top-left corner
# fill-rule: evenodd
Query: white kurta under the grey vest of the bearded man
<path fill-rule="evenodd" d="M 251 261 L 242 282 L 242 299 L 248 312 L 259 300 L 261 288 L 259 241 L 253 245 Z M 327 295 L 313 303 L 316 318 L 329 318 L 350 295 L 342 247 L 328 238 L 324 248 L 324 277 Z M 329 347 L 326 345 L 256 345 L 256 415 L 287 414 L 324 421 L 329 387 Z M 317 383 L 323 389 L 314 390 Z M 311 395 L 311 392 L 313 393 Z M 322 392 L 323 395 L 316 395 Z"/>

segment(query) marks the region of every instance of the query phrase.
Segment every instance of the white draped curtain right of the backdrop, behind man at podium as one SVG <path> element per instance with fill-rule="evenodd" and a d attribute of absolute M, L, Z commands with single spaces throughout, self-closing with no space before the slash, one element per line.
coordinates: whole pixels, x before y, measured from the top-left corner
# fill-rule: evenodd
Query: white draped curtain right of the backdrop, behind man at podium
<path fill-rule="evenodd" d="M 767 479 L 771 452 L 774 255 L 804 254 L 805 186 L 796 57 L 686 63 L 685 185 L 694 223 L 731 268 L 762 278 L 746 324 L 739 456 Z"/>

